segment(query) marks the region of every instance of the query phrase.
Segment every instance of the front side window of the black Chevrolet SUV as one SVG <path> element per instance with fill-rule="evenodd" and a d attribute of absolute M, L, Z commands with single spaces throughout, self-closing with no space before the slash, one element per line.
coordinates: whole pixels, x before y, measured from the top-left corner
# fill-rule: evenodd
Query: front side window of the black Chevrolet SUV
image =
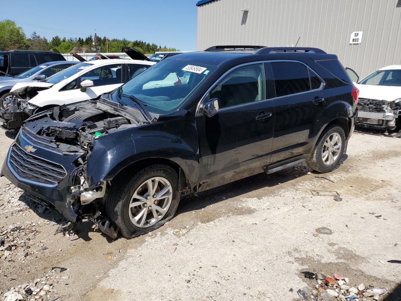
<path fill-rule="evenodd" d="M 217 98 L 219 109 L 265 99 L 263 65 L 239 67 L 227 74 L 213 88 L 209 99 Z"/>

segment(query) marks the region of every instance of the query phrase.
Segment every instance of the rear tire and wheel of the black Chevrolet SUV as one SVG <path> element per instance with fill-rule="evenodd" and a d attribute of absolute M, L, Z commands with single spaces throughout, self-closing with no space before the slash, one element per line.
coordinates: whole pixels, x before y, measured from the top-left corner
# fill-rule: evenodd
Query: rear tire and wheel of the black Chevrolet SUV
<path fill-rule="evenodd" d="M 340 165 L 345 147 L 344 130 L 338 125 L 332 125 L 320 136 L 306 165 L 320 173 L 333 171 Z"/>

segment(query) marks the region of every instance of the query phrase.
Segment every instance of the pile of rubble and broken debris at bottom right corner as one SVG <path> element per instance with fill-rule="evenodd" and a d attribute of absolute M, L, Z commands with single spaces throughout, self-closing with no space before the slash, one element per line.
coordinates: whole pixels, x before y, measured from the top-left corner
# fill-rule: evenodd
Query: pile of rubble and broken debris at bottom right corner
<path fill-rule="evenodd" d="M 320 301 L 369 301 L 379 300 L 387 292 L 384 288 L 377 288 L 364 283 L 356 284 L 355 287 L 345 285 L 349 279 L 344 276 L 325 273 L 301 272 L 305 278 L 312 280 L 312 287 L 298 289 L 300 300 Z M 290 290 L 291 291 L 291 290 Z"/>

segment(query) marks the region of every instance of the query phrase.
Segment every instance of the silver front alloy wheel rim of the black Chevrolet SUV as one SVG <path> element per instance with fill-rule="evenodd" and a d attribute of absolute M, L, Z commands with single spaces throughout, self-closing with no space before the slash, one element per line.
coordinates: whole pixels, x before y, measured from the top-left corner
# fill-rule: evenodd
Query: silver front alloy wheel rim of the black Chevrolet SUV
<path fill-rule="evenodd" d="M 138 228 L 147 228 L 161 220 L 172 200 L 172 187 L 163 177 L 152 177 L 139 185 L 132 195 L 128 214 Z"/>

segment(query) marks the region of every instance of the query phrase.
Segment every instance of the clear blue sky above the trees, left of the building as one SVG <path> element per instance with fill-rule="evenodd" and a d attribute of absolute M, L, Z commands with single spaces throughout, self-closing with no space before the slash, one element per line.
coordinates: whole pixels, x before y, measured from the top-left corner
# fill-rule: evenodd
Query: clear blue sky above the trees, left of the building
<path fill-rule="evenodd" d="M 2 3 L 0 20 L 10 19 L 27 37 L 36 31 L 59 37 L 142 40 L 181 51 L 196 49 L 198 0 L 12 0 Z M 6 14 L 5 14 L 6 12 Z"/>

